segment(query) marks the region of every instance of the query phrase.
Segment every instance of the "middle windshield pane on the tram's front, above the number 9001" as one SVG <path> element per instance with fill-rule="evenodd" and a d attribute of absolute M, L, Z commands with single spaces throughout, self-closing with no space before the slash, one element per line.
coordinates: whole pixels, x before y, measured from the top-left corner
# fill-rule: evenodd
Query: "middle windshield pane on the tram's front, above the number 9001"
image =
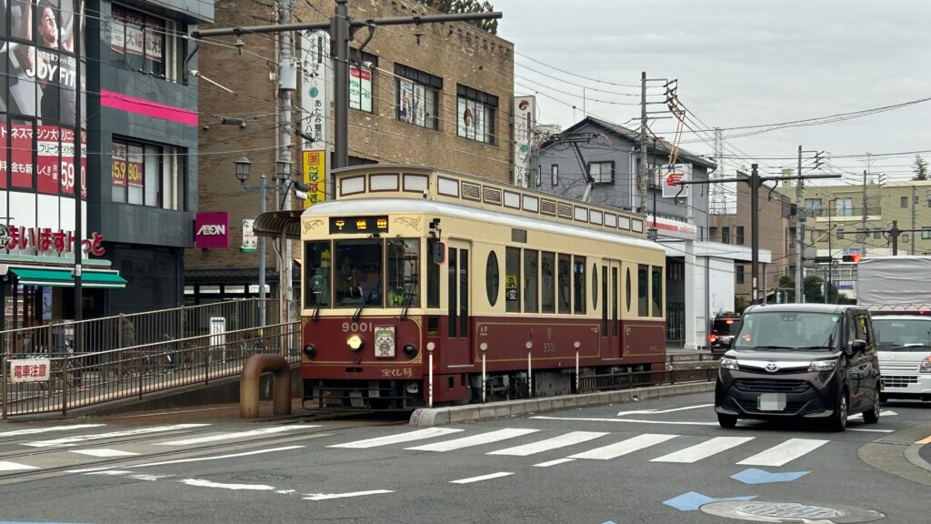
<path fill-rule="evenodd" d="M 335 241 L 334 249 L 336 307 L 380 304 L 384 282 L 382 241 Z"/>

